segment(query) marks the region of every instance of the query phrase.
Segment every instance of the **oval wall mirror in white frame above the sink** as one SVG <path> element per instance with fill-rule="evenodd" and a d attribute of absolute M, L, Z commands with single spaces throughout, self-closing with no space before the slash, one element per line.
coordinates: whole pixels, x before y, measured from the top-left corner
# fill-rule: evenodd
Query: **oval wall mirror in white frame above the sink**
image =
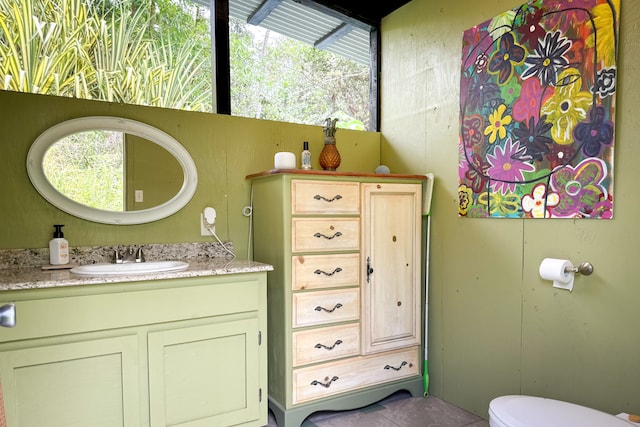
<path fill-rule="evenodd" d="M 198 183 L 189 152 L 167 133 L 120 117 L 81 117 L 43 132 L 27 155 L 36 190 L 57 208 L 104 224 L 166 218 Z"/>

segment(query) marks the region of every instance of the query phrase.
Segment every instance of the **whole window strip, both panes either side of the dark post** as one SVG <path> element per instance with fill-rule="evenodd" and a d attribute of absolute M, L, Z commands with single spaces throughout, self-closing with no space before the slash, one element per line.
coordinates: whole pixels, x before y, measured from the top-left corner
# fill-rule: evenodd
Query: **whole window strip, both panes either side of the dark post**
<path fill-rule="evenodd" d="M 377 127 L 376 33 L 308 0 L 0 0 L 0 20 L 5 90 Z"/>

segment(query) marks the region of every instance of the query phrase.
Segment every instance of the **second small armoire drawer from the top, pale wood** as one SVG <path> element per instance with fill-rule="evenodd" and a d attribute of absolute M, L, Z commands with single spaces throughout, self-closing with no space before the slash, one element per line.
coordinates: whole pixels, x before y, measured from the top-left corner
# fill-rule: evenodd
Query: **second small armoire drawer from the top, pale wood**
<path fill-rule="evenodd" d="M 293 252 L 357 251 L 359 218 L 292 218 Z"/>

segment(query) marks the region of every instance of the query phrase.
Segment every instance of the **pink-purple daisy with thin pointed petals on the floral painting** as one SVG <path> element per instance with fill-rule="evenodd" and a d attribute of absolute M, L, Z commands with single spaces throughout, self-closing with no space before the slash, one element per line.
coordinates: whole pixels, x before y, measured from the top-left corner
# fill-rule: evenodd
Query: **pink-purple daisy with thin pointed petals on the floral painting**
<path fill-rule="evenodd" d="M 502 194 L 516 191 L 516 184 L 524 181 L 524 172 L 533 172 L 535 167 L 519 160 L 523 149 L 517 141 L 507 138 L 504 146 L 497 146 L 493 154 L 487 154 L 491 167 L 487 171 L 493 181 L 492 188 Z"/>

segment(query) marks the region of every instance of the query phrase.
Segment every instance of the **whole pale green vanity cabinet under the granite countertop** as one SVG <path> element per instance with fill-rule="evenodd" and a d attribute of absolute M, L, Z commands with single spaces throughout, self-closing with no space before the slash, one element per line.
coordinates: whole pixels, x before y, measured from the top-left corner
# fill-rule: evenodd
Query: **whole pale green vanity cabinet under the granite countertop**
<path fill-rule="evenodd" d="M 0 293 L 8 426 L 266 425 L 266 290 L 256 272 Z"/>

